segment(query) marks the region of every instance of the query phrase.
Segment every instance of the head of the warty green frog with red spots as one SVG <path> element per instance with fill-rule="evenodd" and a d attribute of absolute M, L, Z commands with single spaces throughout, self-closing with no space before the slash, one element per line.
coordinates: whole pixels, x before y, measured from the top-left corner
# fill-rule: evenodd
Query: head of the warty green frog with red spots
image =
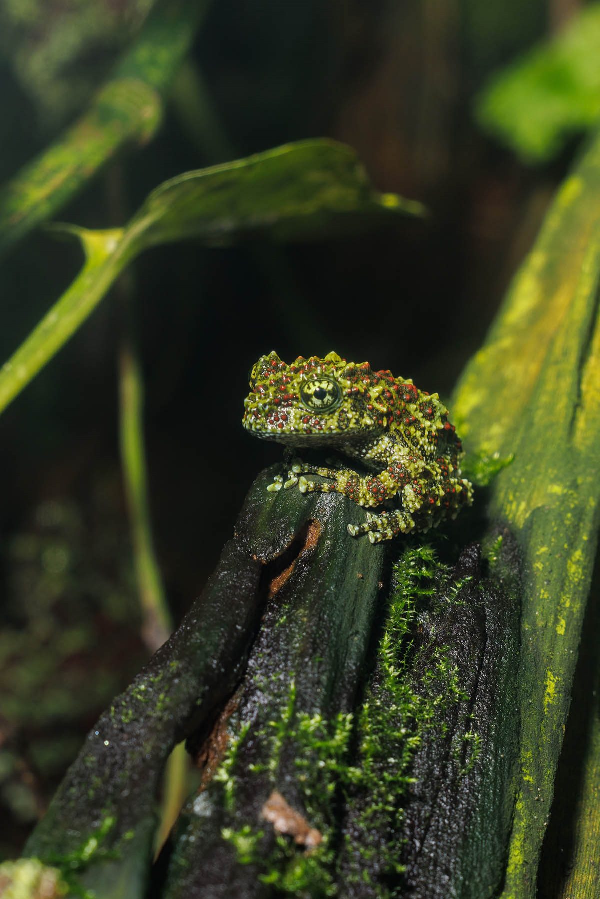
<path fill-rule="evenodd" d="M 384 378 L 382 376 L 388 376 Z M 343 446 L 369 441 L 386 430 L 393 378 L 330 352 L 300 356 L 291 365 L 276 352 L 250 372 L 244 426 L 257 437 L 290 446 Z"/>

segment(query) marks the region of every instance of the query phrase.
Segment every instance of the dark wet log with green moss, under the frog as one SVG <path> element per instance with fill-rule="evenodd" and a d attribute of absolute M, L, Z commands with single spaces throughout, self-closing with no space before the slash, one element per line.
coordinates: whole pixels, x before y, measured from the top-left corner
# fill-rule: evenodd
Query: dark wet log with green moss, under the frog
<path fill-rule="evenodd" d="M 27 852 L 98 899 L 144 895 L 158 782 L 187 737 L 202 786 L 160 895 L 479 899 L 501 884 L 515 792 L 510 535 L 483 564 L 477 545 L 448 547 L 453 566 L 416 538 L 373 546 L 348 534 L 347 498 L 268 493 L 277 470 Z"/>

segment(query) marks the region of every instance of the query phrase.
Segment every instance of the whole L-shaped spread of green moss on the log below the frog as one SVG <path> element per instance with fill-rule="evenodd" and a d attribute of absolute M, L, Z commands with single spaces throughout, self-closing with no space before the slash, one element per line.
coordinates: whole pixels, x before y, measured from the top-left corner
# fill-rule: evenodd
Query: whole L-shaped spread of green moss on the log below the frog
<path fill-rule="evenodd" d="M 258 877 L 280 894 L 337 895 L 336 881 L 342 877 L 370 884 L 372 895 L 395 895 L 379 877 L 372 877 L 372 868 L 382 873 L 381 881 L 399 881 L 402 798 L 413 782 L 415 752 L 425 738 L 446 734 L 444 717 L 449 708 L 468 699 L 448 648 L 432 647 L 427 641 L 416 645 L 416 634 L 424 610 L 432 616 L 461 604 L 461 587 L 469 581 L 470 576 L 452 578 L 450 567 L 437 559 L 433 547 L 407 547 L 394 567 L 371 685 L 357 713 L 327 719 L 318 711 L 298 708 L 292 674 L 281 712 L 253 733 L 253 740 L 263 743 L 265 751 L 261 753 L 264 761 L 250 766 L 250 771 L 257 776 L 268 774 L 273 789 L 280 782 L 282 759 L 289 758 L 293 747 L 300 797 L 297 810 L 321 833 L 316 848 L 303 850 L 289 836 L 276 834 L 267 850 L 265 835 L 270 828 L 236 820 L 239 750 L 250 724 L 232 734 L 215 779 L 223 784 L 224 806 L 237 826 L 225 827 L 222 835 L 235 847 L 238 862 L 255 865 Z M 413 672 L 423 652 L 427 653 L 426 668 L 416 685 Z M 479 755 L 479 735 L 466 715 L 452 742 L 457 759 L 464 759 L 465 743 L 470 752 L 461 773 L 467 773 Z M 340 834 L 344 807 L 352 826 Z M 354 859 L 350 870 L 348 866 L 336 870 L 340 836 L 345 858 Z"/>

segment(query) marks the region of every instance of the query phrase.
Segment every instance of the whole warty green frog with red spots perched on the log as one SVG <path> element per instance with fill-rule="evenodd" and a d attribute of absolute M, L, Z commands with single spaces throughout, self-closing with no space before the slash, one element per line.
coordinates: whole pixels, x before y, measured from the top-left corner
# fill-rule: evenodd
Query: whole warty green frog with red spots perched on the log
<path fill-rule="evenodd" d="M 353 467 L 294 459 L 287 480 L 277 476 L 269 487 L 299 485 L 301 493 L 335 491 L 366 508 L 389 507 L 367 512 L 363 524 L 348 525 L 353 537 L 368 533 L 377 543 L 426 531 L 472 502 L 448 410 L 437 394 L 418 390 L 412 380 L 373 371 L 368 362 L 346 362 L 336 352 L 325 359 L 300 356 L 291 365 L 271 352 L 256 362 L 250 387 L 246 430 L 292 449 L 331 447 L 372 472 L 363 476 Z M 327 481 L 309 480 L 308 474 Z"/>

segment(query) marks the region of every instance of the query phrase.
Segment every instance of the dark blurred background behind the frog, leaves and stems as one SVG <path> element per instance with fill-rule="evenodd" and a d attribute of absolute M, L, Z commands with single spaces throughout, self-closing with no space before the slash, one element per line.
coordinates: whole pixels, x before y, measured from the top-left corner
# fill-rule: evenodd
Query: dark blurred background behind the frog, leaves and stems
<path fill-rule="evenodd" d="M 524 167 L 478 129 L 473 98 L 575 5 L 220 0 L 193 48 L 214 127 L 197 134 L 172 102 L 157 138 L 61 211 L 61 220 L 112 227 L 120 203 L 137 209 L 166 178 L 321 136 L 354 147 L 379 190 L 430 210 L 425 222 L 314 245 L 181 244 L 135 263 L 153 525 L 175 621 L 213 569 L 255 474 L 281 456 L 241 427 L 260 355 L 335 350 L 450 396 L 574 150 Z M 93 65 L 110 71 L 117 50 L 107 40 L 92 59 L 83 54 L 73 77 Z M 6 49 L 0 84 L 5 178 L 83 101 L 44 114 Z M 13 251 L 0 274 L 0 361 L 80 263 L 75 245 L 43 230 Z M 0 754 L 0 816 L 17 822 L 6 851 L 18 851 L 85 729 L 148 655 L 121 483 L 121 319 L 113 291 L 0 421 L 0 690 L 14 699 L 0 717 L 9 754 L 4 768 Z M 46 667 L 31 674 L 42 655 Z"/>

